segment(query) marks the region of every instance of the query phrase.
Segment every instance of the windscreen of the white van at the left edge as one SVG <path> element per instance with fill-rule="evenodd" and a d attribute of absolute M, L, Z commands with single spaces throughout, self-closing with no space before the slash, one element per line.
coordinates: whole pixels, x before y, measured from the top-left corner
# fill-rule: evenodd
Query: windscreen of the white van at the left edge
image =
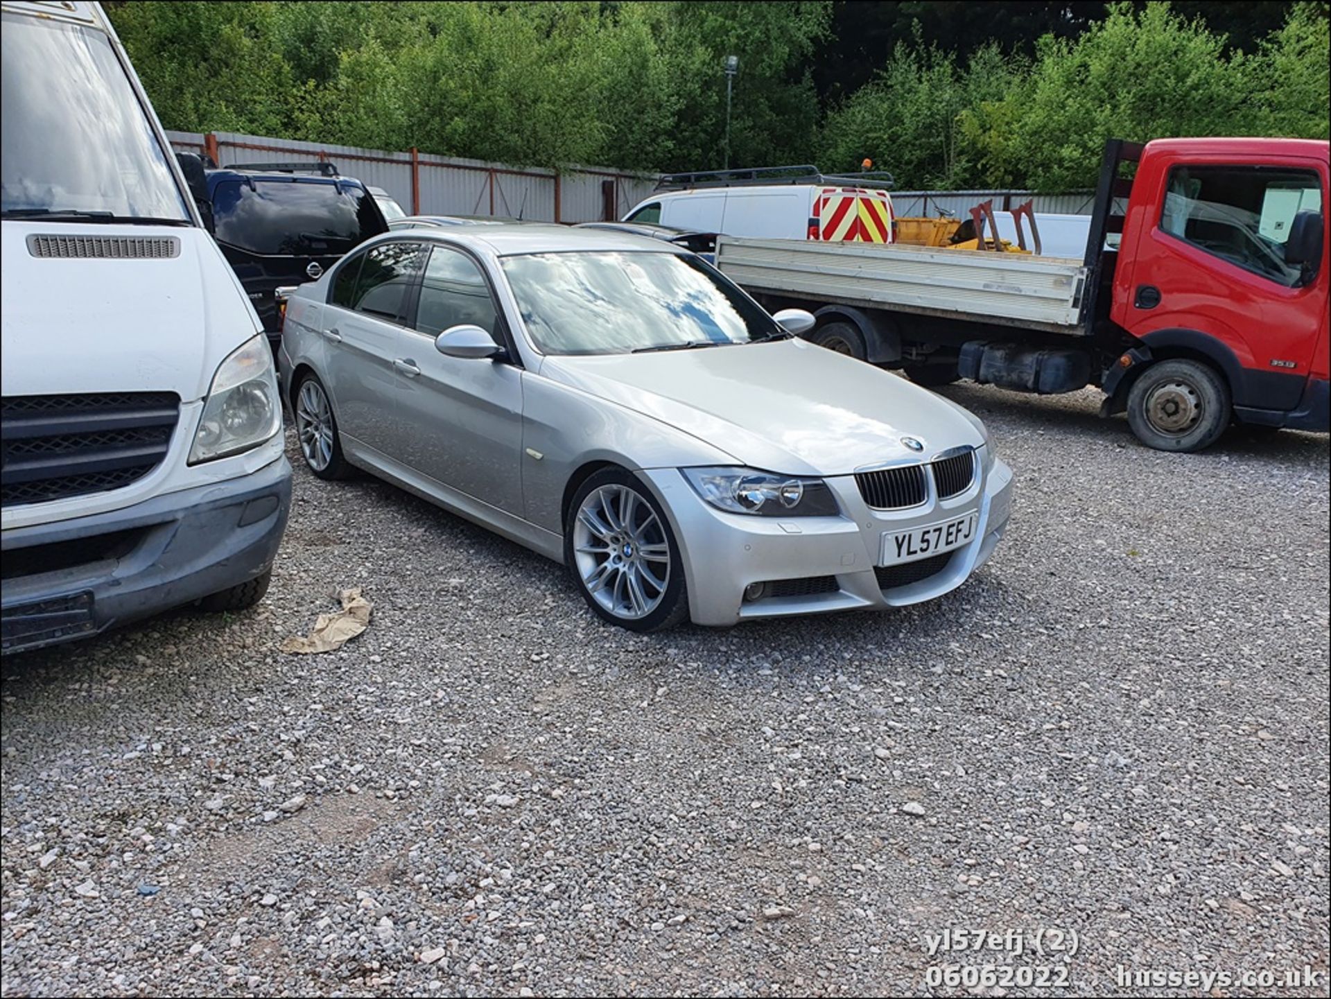
<path fill-rule="evenodd" d="M 7 13 L 0 51 L 0 213 L 189 221 L 106 35 Z"/>

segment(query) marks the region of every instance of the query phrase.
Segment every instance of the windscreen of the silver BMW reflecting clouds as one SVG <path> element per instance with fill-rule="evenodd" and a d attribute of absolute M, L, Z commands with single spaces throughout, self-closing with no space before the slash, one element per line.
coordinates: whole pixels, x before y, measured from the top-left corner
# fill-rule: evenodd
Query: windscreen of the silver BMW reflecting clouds
<path fill-rule="evenodd" d="M 627 354 L 784 335 L 735 285 L 673 253 L 504 257 L 508 286 L 543 354 Z"/>

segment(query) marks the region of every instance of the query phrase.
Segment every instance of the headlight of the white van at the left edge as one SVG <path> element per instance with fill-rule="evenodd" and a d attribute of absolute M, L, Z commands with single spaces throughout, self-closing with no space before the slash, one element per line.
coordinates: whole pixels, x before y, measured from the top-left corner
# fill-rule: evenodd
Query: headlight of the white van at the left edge
<path fill-rule="evenodd" d="M 210 462 L 258 447 L 282 428 L 273 350 L 262 334 L 217 367 L 189 463 Z"/>

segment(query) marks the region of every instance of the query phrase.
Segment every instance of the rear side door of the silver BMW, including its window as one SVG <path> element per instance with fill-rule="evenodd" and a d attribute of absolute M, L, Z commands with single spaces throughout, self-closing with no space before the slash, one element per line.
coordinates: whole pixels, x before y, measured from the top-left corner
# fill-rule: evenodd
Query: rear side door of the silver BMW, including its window
<path fill-rule="evenodd" d="M 393 455 L 402 378 L 394 360 L 403 313 L 423 247 L 386 242 L 359 254 L 354 275 L 339 270 L 323 310 L 327 390 L 342 436 Z M 349 261 L 347 263 L 355 263 Z"/>

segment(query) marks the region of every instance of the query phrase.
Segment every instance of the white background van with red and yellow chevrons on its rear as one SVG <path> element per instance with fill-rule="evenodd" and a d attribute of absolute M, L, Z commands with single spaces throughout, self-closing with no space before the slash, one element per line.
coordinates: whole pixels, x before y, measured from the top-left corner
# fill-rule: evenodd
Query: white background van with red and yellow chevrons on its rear
<path fill-rule="evenodd" d="M 724 173 L 743 172 L 683 177 L 712 178 Z M 827 177 L 819 184 L 752 184 L 721 177 L 700 180 L 697 186 L 683 190 L 654 194 L 636 205 L 623 221 L 755 239 L 890 243 L 893 218 L 888 192 L 861 186 L 853 178 Z"/>

